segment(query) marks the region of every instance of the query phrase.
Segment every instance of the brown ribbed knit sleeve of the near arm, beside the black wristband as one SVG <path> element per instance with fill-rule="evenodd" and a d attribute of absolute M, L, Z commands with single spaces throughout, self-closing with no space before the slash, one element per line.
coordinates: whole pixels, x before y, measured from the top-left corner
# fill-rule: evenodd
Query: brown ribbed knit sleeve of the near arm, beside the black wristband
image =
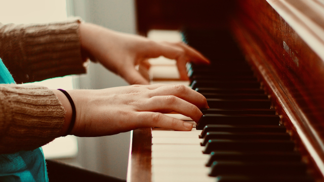
<path fill-rule="evenodd" d="M 0 84 L 0 154 L 33 150 L 59 136 L 65 110 L 44 86 Z"/>

